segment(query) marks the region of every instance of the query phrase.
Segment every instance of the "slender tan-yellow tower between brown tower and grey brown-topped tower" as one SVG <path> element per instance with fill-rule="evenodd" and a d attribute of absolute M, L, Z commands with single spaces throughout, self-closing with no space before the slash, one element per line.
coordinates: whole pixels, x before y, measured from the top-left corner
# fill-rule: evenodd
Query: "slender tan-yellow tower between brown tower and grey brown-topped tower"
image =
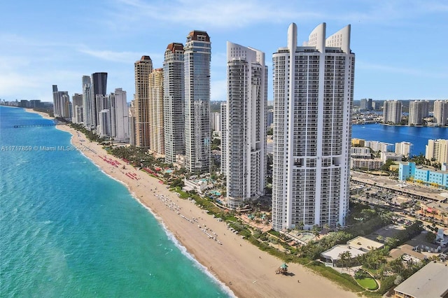
<path fill-rule="evenodd" d="M 149 150 L 158 155 L 165 154 L 165 132 L 163 129 L 163 69 L 153 69 L 149 74 Z"/>

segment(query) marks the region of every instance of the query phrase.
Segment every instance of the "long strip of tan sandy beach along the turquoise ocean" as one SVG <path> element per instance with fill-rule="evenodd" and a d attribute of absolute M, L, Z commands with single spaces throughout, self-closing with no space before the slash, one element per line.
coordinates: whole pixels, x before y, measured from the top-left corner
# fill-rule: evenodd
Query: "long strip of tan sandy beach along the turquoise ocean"
<path fill-rule="evenodd" d="M 46 113 L 25 111 L 54 120 Z M 59 124 L 56 128 L 71 134 L 74 147 L 88 147 L 89 150 L 80 150 L 81 153 L 106 175 L 123 183 L 167 234 L 202 265 L 201 270 L 214 276 L 221 287 L 230 289 L 237 297 L 358 297 L 300 264 L 289 263 L 288 276 L 275 274 L 282 260 L 230 232 L 225 222 L 212 218 L 194 201 L 180 199 L 167 185 L 159 183 L 158 178 L 109 155 L 102 146 L 88 141 L 69 125 Z"/>

